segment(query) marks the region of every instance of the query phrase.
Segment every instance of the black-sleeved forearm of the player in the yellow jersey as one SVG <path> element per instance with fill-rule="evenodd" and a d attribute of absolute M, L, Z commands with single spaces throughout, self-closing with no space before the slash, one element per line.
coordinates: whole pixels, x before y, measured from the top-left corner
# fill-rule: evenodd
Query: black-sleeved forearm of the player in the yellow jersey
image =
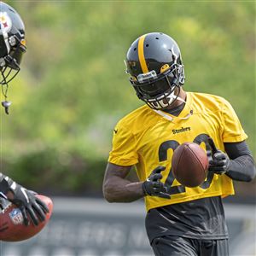
<path fill-rule="evenodd" d="M 241 155 L 235 160 L 230 160 L 229 169 L 226 175 L 236 181 L 250 182 L 256 175 L 253 157 L 249 154 Z"/>

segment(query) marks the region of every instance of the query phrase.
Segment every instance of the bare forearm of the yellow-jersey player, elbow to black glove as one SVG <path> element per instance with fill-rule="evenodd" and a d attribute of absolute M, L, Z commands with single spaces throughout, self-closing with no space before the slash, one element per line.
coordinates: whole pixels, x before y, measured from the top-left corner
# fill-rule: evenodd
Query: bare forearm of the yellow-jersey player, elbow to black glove
<path fill-rule="evenodd" d="M 143 183 L 131 183 L 121 177 L 114 177 L 103 185 L 103 194 L 108 202 L 131 202 L 144 196 Z"/>

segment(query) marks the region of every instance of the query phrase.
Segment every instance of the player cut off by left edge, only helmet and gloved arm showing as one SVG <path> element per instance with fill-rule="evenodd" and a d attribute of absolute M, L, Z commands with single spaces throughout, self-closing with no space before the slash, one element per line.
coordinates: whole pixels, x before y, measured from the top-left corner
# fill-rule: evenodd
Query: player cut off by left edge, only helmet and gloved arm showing
<path fill-rule="evenodd" d="M 21 57 L 25 52 L 23 21 L 15 9 L 7 3 L 0 2 L 0 83 L 4 96 L 2 105 L 7 114 L 10 106 L 7 100 L 9 82 L 19 73 Z M 26 225 L 29 224 L 29 219 L 38 225 L 40 221 L 44 221 L 46 212 L 49 212 L 44 202 L 36 197 L 35 192 L 23 188 L 1 172 L 0 195 L 20 208 Z"/>

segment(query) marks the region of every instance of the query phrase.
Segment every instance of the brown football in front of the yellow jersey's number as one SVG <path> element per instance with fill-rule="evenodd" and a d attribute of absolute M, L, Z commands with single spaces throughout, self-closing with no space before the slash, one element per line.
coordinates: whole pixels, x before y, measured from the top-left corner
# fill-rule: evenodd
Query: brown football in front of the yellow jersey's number
<path fill-rule="evenodd" d="M 204 182 L 208 165 L 207 153 L 196 143 L 183 143 L 172 155 L 173 176 L 189 188 L 197 187 Z"/>

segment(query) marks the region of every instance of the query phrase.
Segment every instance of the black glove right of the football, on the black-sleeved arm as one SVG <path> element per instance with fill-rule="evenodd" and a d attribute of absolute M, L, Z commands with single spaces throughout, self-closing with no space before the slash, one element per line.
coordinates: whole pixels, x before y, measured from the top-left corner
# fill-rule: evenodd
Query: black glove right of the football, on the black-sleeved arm
<path fill-rule="evenodd" d="M 230 158 L 223 151 L 216 148 L 211 137 L 208 138 L 208 143 L 212 152 L 212 159 L 209 160 L 208 171 L 216 174 L 224 174 L 229 171 Z"/>

